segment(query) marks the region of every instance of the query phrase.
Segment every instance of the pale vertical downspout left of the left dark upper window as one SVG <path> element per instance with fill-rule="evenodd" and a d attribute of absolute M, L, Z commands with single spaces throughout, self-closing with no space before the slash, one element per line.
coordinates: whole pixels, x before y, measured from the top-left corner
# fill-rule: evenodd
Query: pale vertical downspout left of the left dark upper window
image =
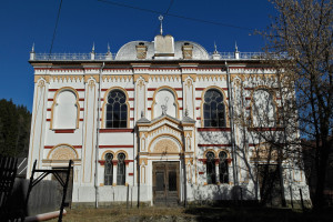
<path fill-rule="evenodd" d="M 99 208 L 99 180 L 98 180 L 98 172 L 99 172 L 99 147 L 100 147 L 100 109 L 101 109 L 101 84 L 102 84 L 102 71 L 105 67 L 105 63 L 101 65 L 100 69 L 100 77 L 99 77 L 99 97 L 98 97 L 98 124 L 97 124 L 97 139 L 95 139 L 95 171 L 94 171 L 94 194 L 95 194 L 95 208 Z"/>

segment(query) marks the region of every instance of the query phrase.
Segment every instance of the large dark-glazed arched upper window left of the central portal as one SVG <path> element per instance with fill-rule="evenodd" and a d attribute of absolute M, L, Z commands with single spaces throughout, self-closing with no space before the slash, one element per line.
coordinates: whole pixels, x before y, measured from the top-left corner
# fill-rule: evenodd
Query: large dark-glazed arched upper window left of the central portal
<path fill-rule="evenodd" d="M 127 97 L 120 90 L 112 90 L 108 95 L 105 128 L 127 128 Z"/>

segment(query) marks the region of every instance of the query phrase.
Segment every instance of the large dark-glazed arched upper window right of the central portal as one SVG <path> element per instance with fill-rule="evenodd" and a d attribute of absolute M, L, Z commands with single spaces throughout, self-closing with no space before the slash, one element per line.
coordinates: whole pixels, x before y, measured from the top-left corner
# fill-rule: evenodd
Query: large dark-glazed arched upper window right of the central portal
<path fill-rule="evenodd" d="M 223 95 L 218 90 L 208 90 L 204 93 L 203 118 L 205 128 L 225 127 Z"/>

